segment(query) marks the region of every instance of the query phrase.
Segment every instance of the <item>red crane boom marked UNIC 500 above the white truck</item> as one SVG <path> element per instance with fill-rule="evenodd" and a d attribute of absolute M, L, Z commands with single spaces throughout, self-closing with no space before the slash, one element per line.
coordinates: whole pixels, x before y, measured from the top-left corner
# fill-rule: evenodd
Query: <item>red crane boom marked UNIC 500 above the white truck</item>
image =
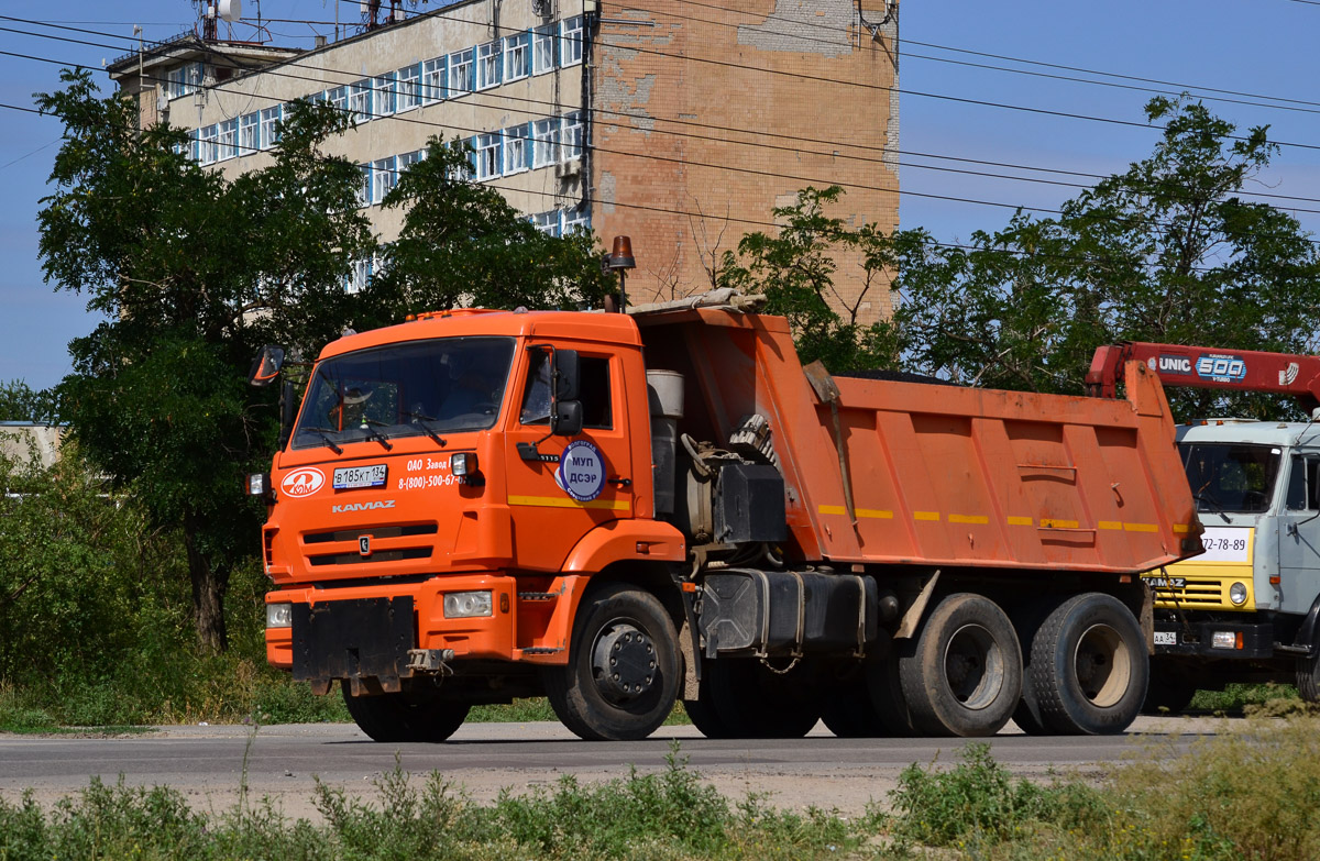
<path fill-rule="evenodd" d="M 1154 371 L 1164 387 L 1292 395 L 1308 412 L 1320 407 L 1320 357 L 1144 341 L 1098 347 L 1086 372 L 1086 391 L 1117 397 L 1123 363 L 1134 359 Z"/>

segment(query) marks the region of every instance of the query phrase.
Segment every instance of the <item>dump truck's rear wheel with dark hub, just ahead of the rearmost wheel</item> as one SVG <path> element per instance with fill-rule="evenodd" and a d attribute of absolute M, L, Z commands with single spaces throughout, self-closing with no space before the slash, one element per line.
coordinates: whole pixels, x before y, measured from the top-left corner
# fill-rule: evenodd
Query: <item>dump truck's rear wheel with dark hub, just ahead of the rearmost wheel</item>
<path fill-rule="evenodd" d="M 949 596 L 904 647 L 899 677 L 917 732 L 994 736 L 1022 696 L 1018 635 L 994 601 Z"/>

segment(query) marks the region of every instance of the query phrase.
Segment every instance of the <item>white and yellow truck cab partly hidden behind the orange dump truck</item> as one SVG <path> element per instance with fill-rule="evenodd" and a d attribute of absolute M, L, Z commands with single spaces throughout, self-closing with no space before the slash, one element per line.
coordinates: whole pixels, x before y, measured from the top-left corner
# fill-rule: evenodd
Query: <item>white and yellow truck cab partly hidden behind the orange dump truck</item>
<path fill-rule="evenodd" d="M 1177 444 L 1205 553 L 1144 576 L 1147 710 L 1232 681 L 1295 683 L 1316 701 L 1320 424 L 1212 419 L 1180 425 Z"/>

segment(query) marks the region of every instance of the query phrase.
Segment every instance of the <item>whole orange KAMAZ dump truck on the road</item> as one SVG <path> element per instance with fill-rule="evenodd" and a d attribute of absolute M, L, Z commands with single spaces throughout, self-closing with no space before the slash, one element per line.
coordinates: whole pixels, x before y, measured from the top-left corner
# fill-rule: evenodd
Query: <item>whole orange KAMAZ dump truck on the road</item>
<path fill-rule="evenodd" d="M 378 741 L 540 695 L 583 738 L 680 699 L 711 737 L 1122 732 L 1138 574 L 1200 549 L 1138 363 L 1126 400 L 830 378 L 717 305 L 425 314 L 308 379 L 249 479 L 267 654 Z"/>

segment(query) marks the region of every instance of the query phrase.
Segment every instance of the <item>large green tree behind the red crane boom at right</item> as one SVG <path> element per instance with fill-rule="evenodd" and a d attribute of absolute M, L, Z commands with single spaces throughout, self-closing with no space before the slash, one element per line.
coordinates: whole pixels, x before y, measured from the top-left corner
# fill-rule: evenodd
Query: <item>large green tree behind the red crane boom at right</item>
<path fill-rule="evenodd" d="M 1320 255 L 1298 221 L 1241 193 L 1278 151 L 1203 104 L 1146 106 L 1154 152 L 1052 219 L 1018 213 L 970 248 L 924 231 L 892 238 L 896 337 L 913 370 L 960 382 L 1080 394 L 1092 353 L 1115 341 L 1312 353 Z M 1278 409 L 1171 390 L 1181 415 Z M 1265 404 L 1269 403 L 1269 407 Z"/>

